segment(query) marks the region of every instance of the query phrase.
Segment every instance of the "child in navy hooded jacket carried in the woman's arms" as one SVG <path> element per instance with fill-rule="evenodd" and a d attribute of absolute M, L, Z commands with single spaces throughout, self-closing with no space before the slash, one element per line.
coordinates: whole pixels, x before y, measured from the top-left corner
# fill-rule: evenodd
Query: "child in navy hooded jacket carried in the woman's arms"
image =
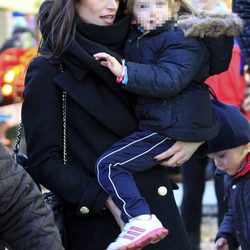
<path fill-rule="evenodd" d="M 135 0 L 132 8 L 138 26 L 125 48 L 125 58 L 133 62 L 121 65 L 106 53 L 94 55 L 96 60 L 104 59 L 100 63 L 112 71 L 117 83 L 138 94 L 139 130 L 113 145 L 96 163 L 98 181 L 126 223 L 108 250 L 139 249 L 167 235 L 168 230 L 141 197 L 133 175 L 157 165 L 154 156 L 176 140 L 202 143 L 218 131 L 209 90 L 203 83 L 217 64 L 210 64 L 203 40 L 186 38 L 182 30 L 175 29 L 179 7 L 179 1 L 173 0 Z M 183 7 L 194 12 L 181 1 Z M 204 36 L 203 29 L 201 33 Z M 231 50 L 231 45 L 229 38 L 220 50 Z M 220 67 L 225 70 L 227 63 L 223 61 Z M 152 95 L 155 98 L 149 97 Z"/>

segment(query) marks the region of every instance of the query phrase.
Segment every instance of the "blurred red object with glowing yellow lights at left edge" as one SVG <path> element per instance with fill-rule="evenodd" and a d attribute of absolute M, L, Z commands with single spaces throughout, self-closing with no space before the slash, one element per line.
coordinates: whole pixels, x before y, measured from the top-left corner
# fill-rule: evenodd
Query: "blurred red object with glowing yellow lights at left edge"
<path fill-rule="evenodd" d="M 25 71 L 36 53 L 36 48 L 9 48 L 0 53 L 2 105 L 22 101 Z"/>

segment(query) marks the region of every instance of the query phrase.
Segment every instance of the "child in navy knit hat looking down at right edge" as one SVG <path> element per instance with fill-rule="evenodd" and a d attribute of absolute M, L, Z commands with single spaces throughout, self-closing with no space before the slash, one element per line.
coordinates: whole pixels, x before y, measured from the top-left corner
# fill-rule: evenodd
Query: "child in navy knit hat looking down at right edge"
<path fill-rule="evenodd" d="M 250 249 L 250 124 L 234 106 L 216 104 L 219 134 L 208 142 L 209 157 L 229 176 L 229 209 L 216 237 L 215 249 Z M 226 177 L 226 176 L 225 176 Z M 238 243 L 237 243 L 238 242 Z"/>

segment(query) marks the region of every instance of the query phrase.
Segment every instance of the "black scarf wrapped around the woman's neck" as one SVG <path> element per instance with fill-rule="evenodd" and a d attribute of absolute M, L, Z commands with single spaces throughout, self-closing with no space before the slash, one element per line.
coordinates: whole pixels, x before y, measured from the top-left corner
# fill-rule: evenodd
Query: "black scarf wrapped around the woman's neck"
<path fill-rule="evenodd" d="M 106 52 L 121 61 L 123 45 L 129 32 L 129 16 L 124 16 L 113 25 L 99 26 L 85 23 L 76 16 L 76 33 L 74 40 L 60 56 L 60 60 L 70 74 L 79 81 L 86 77 L 86 70 L 100 77 L 105 83 L 114 82 L 114 75 L 96 61 L 93 54 Z M 44 47 L 50 48 L 50 39 L 43 34 Z"/>

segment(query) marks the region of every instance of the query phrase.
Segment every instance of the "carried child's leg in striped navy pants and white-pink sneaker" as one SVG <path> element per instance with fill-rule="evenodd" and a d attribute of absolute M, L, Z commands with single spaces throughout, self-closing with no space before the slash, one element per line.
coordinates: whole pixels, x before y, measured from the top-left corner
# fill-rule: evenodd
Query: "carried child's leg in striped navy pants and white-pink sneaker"
<path fill-rule="evenodd" d="M 154 156 L 170 147 L 170 140 L 151 131 L 135 132 L 120 140 L 96 163 L 100 184 L 121 209 L 126 222 L 122 232 L 107 250 L 140 249 L 163 239 L 168 230 L 141 197 L 133 174 L 157 165 Z"/>

